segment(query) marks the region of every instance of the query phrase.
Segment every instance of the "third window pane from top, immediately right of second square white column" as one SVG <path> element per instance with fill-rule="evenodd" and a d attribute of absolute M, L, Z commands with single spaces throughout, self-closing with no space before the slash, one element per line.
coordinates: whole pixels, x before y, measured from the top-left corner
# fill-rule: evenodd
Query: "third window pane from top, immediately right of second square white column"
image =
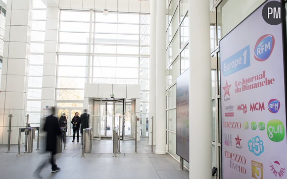
<path fill-rule="evenodd" d="M 89 33 L 61 32 L 60 42 L 89 43 Z"/>

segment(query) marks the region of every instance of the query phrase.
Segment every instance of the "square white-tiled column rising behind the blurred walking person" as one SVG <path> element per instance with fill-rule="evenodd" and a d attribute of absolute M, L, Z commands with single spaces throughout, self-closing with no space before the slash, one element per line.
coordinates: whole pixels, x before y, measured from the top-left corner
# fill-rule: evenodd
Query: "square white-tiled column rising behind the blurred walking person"
<path fill-rule="evenodd" d="M 59 7 L 47 6 L 41 116 L 46 106 L 55 106 L 59 15 Z M 44 124 L 41 118 L 41 126 Z"/>

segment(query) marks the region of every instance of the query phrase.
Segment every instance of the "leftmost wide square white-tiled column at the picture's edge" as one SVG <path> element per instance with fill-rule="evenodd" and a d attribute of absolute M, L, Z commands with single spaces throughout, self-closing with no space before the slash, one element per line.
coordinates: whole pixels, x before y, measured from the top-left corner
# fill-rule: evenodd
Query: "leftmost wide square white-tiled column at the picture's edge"
<path fill-rule="evenodd" d="M 12 114 L 11 144 L 18 143 L 27 110 L 33 0 L 7 0 L 0 93 L 0 143 L 8 143 Z"/>

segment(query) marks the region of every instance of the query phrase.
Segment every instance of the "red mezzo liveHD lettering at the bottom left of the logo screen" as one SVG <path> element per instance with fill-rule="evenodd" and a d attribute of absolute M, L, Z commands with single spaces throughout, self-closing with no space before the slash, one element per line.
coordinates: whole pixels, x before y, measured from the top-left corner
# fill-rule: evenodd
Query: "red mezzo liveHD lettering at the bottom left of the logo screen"
<path fill-rule="evenodd" d="M 244 156 L 229 151 L 225 151 L 225 157 L 230 159 L 230 168 L 242 174 L 246 174 L 246 169 L 242 167 L 242 165 L 246 164 L 246 159 Z"/>

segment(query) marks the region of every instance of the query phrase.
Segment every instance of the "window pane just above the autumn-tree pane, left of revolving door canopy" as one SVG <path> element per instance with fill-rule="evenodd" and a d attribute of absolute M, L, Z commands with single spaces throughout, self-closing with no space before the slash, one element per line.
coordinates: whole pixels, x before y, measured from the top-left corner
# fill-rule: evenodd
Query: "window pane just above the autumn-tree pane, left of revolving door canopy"
<path fill-rule="evenodd" d="M 58 77 L 57 87 L 58 88 L 85 88 L 87 78 L 65 78 Z"/>

